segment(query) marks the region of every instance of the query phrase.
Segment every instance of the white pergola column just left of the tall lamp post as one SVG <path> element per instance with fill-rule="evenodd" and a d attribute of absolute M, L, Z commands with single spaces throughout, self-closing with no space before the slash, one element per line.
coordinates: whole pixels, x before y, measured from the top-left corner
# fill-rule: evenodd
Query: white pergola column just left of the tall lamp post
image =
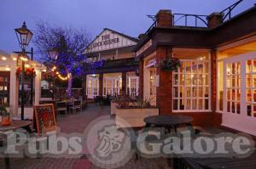
<path fill-rule="evenodd" d="M 16 65 L 10 67 L 10 84 L 9 84 L 9 111 L 11 119 L 18 115 L 19 107 L 19 81 L 16 78 Z"/>

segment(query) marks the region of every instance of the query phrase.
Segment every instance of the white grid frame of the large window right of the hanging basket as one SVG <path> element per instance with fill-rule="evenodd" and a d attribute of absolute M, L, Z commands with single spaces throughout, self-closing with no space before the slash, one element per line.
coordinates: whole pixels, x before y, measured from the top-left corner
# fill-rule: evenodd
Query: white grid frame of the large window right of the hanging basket
<path fill-rule="evenodd" d="M 189 87 L 190 87 L 190 97 L 187 97 L 187 93 L 185 91 L 186 87 L 187 87 L 187 83 L 186 83 L 186 80 L 184 81 L 184 84 L 181 85 L 179 84 L 180 82 L 180 76 L 178 76 L 178 83 L 175 84 L 174 83 L 174 76 L 175 75 L 184 75 L 185 77 L 187 76 L 187 73 L 186 73 L 186 69 L 184 69 L 183 73 L 180 72 L 180 69 L 177 70 L 177 72 L 173 71 L 172 73 L 172 112 L 174 113 L 180 113 L 180 112 L 212 112 L 212 103 L 211 103 L 211 97 L 212 97 L 212 93 L 211 93 L 211 59 L 210 57 L 208 57 L 208 59 L 206 60 L 197 60 L 197 59 L 180 59 L 181 62 L 190 62 L 191 65 L 192 65 L 192 62 L 207 62 L 208 63 L 208 73 L 198 73 L 198 74 L 195 74 L 195 75 L 204 75 L 204 76 L 208 76 L 207 80 L 208 80 L 208 85 L 205 85 L 205 82 L 203 85 L 192 85 L 190 84 Z M 191 69 L 192 69 L 192 66 L 191 66 Z M 192 70 L 190 70 L 189 72 L 192 72 Z M 191 73 L 189 73 L 191 74 Z M 177 87 L 177 90 L 178 90 L 178 96 L 177 97 L 174 97 L 174 87 Z M 179 96 L 179 93 L 180 93 L 180 87 L 183 87 L 184 88 L 184 94 L 183 94 L 183 97 L 180 97 Z M 192 97 L 192 88 L 193 87 L 203 87 L 203 97 L 202 98 L 198 98 L 198 97 Z M 205 97 L 205 93 L 206 93 L 206 87 L 208 87 L 208 97 Z M 198 95 L 198 91 L 196 91 L 196 95 Z M 189 99 L 190 100 L 190 109 L 189 110 L 186 110 L 186 102 L 184 102 L 184 110 L 179 110 L 180 108 L 180 100 L 181 99 Z M 196 99 L 196 110 L 192 110 L 192 100 L 193 99 Z M 202 99 L 203 100 L 203 109 L 202 110 L 199 110 L 198 109 L 198 100 L 199 99 Z M 208 109 L 206 110 L 205 109 L 205 100 L 208 100 Z M 174 110 L 174 100 L 177 100 L 177 110 Z"/>

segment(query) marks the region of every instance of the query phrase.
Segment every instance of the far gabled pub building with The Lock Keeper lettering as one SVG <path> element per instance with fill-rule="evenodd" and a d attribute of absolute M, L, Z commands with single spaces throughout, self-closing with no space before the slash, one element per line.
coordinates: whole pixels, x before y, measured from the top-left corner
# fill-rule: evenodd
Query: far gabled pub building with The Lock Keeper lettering
<path fill-rule="evenodd" d="M 92 63 L 86 70 L 83 88 L 87 99 L 96 96 L 117 96 L 121 91 L 138 95 L 138 61 L 134 48 L 137 38 L 105 28 L 85 48 L 84 54 Z"/>

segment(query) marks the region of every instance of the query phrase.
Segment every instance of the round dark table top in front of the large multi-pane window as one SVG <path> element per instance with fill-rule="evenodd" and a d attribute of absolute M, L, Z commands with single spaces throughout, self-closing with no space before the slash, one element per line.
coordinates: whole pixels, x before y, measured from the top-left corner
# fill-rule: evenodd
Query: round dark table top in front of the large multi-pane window
<path fill-rule="evenodd" d="M 143 120 L 146 123 L 145 127 L 165 127 L 165 128 L 174 128 L 177 132 L 177 127 L 181 125 L 187 125 L 191 127 L 191 122 L 193 118 L 187 115 L 153 115 L 144 118 Z"/>

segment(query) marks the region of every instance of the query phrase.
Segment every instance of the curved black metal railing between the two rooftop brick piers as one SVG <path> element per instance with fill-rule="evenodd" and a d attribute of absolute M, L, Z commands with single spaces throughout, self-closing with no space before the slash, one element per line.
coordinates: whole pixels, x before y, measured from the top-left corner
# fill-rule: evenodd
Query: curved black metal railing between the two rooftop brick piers
<path fill-rule="evenodd" d="M 173 25 L 189 27 L 207 27 L 207 15 L 202 14 L 173 14 Z"/>

